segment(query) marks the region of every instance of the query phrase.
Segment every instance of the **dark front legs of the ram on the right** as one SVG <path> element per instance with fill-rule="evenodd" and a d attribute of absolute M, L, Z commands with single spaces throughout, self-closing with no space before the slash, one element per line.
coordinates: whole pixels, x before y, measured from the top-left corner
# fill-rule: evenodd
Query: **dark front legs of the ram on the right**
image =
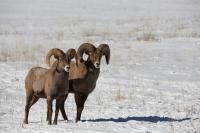
<path fill-rule="evenodd" d="M 81 93 L 75 93 L 75 102 L 77 107 L 77 114 L 76 114 L 76 122 L 80 121 L 81 119 L 81 113 L 84 108 L 84 103 L 87 99 L 88 95 L 81 94 Z"/>

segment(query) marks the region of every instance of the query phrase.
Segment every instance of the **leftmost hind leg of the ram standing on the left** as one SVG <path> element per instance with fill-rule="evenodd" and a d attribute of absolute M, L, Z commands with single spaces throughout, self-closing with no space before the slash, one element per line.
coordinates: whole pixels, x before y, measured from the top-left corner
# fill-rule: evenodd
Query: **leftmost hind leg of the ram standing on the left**
<path fill-rule="evenodd" d="M 26 105 L 25 105 L 25 118 L 24 118 L 24 124 L 28 124 L 28 114 L 30 110 L 30 105 L 31 105 L 31 99 L 32 99 L 32 94 L 29 94 L 26 96 Z"/>

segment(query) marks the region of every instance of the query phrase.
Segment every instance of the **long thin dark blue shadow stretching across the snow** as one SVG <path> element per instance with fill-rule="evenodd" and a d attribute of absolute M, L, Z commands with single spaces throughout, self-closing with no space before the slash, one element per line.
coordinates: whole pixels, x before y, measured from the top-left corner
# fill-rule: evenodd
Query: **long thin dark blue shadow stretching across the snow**
<path fill-rule="evenodd" d="M 99 118 L 99 119 L 90 119 L 90 120 L 82 120 L 83 122 L 89 121 L 89 122 L 128 122 L 128 121 L 144 121 L 144 122 L 182 122 L 186 120 L 190 120 L 191 118 L 183 118 L 183 119 L 174 119 L 169 117 L 159 117 L 159 116 L 129 116 L 126 118 Z"/>

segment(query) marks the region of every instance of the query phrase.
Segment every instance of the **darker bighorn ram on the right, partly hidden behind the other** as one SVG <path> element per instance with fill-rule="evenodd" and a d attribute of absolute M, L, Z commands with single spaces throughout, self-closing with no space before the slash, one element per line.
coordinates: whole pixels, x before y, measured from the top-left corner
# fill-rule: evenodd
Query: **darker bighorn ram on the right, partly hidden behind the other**
<path fill-rule="evenodd" d="M 83 60 L 84 53 L 88 55 L 87 61 Z M 77 54 L 79 57 L 78 66 L 72 63 L 69 71 L 69 92 L 75 94 L 77 106 L 76 122 L 80 121 L 84 103 L 96 86 L 102 56 L 105 55 L 106 62 L 109 64 L 110 48 L 107 44 L 101 44 L 96 48 L 90 43 L 84 43 L 78 48 Z M 61 104 L 60 110 L 63 118 L 67 120 L 64 101 Z"/>

